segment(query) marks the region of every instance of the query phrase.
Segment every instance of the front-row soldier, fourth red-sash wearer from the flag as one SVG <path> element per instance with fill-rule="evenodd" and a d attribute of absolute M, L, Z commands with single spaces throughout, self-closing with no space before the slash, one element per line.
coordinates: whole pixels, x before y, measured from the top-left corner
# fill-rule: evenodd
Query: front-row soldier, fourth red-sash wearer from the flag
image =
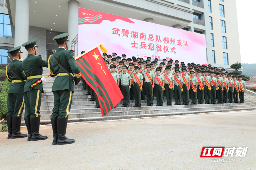
<path fill-rule="evenodd" d="M 169 67 L 166 66 L 165 70 L 166 70 L 166 76 L 170 80 L 170 82 L 168 82 L 164 76 L 164 89 L 165 89 L 165 93 L 166 93 L 167 106 L 172 106 L 174 78 L 173 78 L 173 75 L 170 73 L 171 65 Z M 172 88 L 170 88 L 171 84 L 172 84 Z"/>

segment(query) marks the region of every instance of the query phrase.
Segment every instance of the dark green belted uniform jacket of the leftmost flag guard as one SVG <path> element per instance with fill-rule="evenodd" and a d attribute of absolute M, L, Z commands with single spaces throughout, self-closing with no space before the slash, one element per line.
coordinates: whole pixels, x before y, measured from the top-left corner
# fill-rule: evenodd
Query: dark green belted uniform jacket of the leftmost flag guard
<path fill-rule="evenodd" d="M 12 63 L 6 66 L 6 76 L 9 82 L 12 82 L 12 80 L 20 80 L 12 73 L 12 71 L 9 69 L 9 66 L 12 71 L 15 72 L 20 78 L 22 78 L 23 80 L 26 79 L 23 73 L 22 63 L 19 60 L 13 59 Z M 25 84 L 23 82 L 12 83 L 9 87 L 8 93 L 24 94 L 24 85 Z"/>

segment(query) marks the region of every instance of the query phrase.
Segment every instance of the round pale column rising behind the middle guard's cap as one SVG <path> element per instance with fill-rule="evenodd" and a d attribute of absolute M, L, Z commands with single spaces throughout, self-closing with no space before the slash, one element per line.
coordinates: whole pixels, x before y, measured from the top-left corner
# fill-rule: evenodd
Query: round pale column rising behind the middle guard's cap
<path fill-rule="evenodd" d="M 29 0 L 16 0 L 15 5 L 15 39 L 14 47 L 21 46 L 28 41 L 29 24 Z M 28 52 L 21 47 L 23 60 L 27 58 Z"/>

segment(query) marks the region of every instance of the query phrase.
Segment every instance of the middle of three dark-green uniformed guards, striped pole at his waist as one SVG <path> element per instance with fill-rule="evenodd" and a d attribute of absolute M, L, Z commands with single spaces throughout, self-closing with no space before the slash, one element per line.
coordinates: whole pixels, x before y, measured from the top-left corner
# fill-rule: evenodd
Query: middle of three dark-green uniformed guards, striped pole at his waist
<path fill-rule="evenodd" d="M 40 124 L 40 107 L 43 90 L 43 82 L 46 80 L 42 77 L 43 67 L 48 67 L 48 62 L 44 61 L 41 56 L 35 56 L 37 53 L 37 40 L 31 40 L 22 44 L 28 51 L 28 57 L 22 62 L 22 68 L 27 77 L 24 85 L 25 115 L 24 120 L 28 129 L 28 140 L 44 140 L 47 136 L 39 134 Z M 31 87 L 38 80 L 42 83 Z"/>

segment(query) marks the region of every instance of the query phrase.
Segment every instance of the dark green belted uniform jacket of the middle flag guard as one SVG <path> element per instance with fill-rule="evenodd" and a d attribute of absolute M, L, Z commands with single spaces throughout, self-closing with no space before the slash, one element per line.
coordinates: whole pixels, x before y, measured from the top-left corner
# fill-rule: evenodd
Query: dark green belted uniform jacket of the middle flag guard
<path fill-rule="evenodd" d="M 48 62 L 44 61 L 41 56 L 35 56 L 33 54 L 28 54 L 28 57 L 22 62 L 22 68 L 26 77 L 42 75 L 43 67 L 48 67 Z M 41 78 L 32 78 L 26 80 L 24 92 L 29 92 L 32 89 L 37 89 L 43 93 L 43 83 L 38 83 L 34 87 L 31 87 L 31 85 L 36 83 L 38 80 L 41 80 Z"/>

